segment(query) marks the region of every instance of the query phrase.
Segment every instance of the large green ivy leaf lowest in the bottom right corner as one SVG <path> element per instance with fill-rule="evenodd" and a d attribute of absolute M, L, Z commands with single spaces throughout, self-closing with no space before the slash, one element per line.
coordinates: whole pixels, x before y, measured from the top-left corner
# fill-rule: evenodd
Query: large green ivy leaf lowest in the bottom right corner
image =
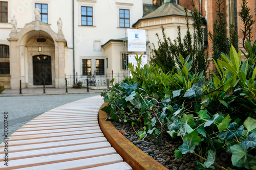
<path fill-rule="evenodd" d="M 231 161 L 234 166 L 237 167 L 246 167 L 250 169 L 250 166 L 247 161 L 246 151 L 240 144 L 234 144 L 230 147 L 232 156 Z"/>

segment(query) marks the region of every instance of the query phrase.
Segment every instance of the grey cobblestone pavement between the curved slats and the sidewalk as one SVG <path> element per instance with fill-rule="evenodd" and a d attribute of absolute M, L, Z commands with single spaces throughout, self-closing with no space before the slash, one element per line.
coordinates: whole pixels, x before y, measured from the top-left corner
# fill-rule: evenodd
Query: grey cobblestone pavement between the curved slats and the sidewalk
<path fill-rule="evenodd" d="M 27 96 L 0 95 L 0 143 L 4 141 L 4 112 L 8 112 L 8 136 L 10 136 L 17 129 L 46 111 L 96 95 L 100 95 L 100 93 Z"/>

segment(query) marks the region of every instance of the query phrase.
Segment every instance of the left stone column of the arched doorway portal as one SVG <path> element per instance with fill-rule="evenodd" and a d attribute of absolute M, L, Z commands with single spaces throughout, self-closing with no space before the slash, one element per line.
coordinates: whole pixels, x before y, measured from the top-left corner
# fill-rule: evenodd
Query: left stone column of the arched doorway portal
<path fill-rule="evenodd" d="M 10 41 L 10 75 L 11 75 L 11 89 L 19 89 L 20 74 L 20 56 L 18 39 L 9 38 Z"/>

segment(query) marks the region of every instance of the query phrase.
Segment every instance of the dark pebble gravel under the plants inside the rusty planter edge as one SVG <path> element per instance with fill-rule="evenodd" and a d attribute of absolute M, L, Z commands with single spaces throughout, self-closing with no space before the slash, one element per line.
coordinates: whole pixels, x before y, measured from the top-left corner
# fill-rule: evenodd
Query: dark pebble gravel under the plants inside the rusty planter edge
<path fill-rule="evenodd" d="M 112 124 L 123 134 L 128 140 L 135 144 L 140 150 L 154 158 L 168 169 L 174 170 L 195 170 L 197 161 L 204 161 L 194 154 L 186 154 L 182 159 L 175 158 L 174 151 L 182 144 L 180 141 L 172 140 L 171 137 L 163 137 L 161 140 L 146 137 L 144 140 L 139 140 L 135 130 L 139 131 L 138 127 L 133 127 L 127 123 L 117 123 L 112 120 Z M 243 169 L 232 166 L 231 155 L 217 153 L 216 162 L 223 167 L 231 167 L 233 169 Z M 215 168 L 220 169 L 220 168 Z"/>

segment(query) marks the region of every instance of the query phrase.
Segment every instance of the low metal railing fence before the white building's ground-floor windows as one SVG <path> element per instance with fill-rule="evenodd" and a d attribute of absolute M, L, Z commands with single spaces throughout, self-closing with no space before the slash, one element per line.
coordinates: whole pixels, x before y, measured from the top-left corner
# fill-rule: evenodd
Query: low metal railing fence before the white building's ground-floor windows
<path fill-rule="evenodd" d="M 119 83 L 120 81 L 124 80 L 125 77 L 128 77 L 129 73 L 126 74 L 104 74 L 104 75 L 90 75 L 90 76 L 83 76 L 83 75 L 75 75 L 75 79 L 73 75 L 66 75 L 67 79 L 67 85 L 73 86 L 74 84 L 77 84 L 79 81 L 82 82 L 82 86 L 87 87 L 87 79 L 88 79 L 88 84 L 89 86 L 104 86 L 108 87 L 108 80 L 109 82 L 112 79 L 115 79 L 114 83 L 109 83 L 109 86 L 113 86 L 116 83 Z M 74 81 L 75 80 L 75 81 Z"/>

